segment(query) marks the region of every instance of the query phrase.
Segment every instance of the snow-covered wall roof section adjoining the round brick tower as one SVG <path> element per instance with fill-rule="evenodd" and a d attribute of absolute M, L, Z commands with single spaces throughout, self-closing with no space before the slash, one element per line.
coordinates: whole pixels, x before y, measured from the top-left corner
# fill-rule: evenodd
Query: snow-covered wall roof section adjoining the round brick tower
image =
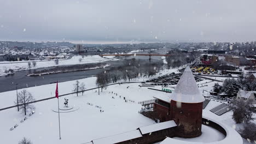
<path fill-rule="evenodd" d="M 174 121 L 167 121 L 167 122 L 148 125 L 146 127 L 140 127 L 139 130 L 141 130 L 141 133 L 144 135 L 144 134 L 152 133 L 154 131 L 168 129 L 176 126 L 177 124 Z"/>

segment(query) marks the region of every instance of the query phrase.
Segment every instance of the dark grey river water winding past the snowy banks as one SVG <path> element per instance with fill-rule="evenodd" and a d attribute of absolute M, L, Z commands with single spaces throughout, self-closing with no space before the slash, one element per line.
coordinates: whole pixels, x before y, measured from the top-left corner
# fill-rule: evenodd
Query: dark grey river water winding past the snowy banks
<path fill-rule="evenodd" d="M 145 56 L 136 56 L 136 57 L 129 56 L 129 57 L 126 57 L 125 59 L 131 59 L 131 58 L 140 59 L 142 63 L 149 62 L 148 60 L 149 57 L 145 57 Z M 159 62 L 161 61 L 161 58 L 159 56 L 153 56 L 152 59 L 153 61 L 159 61 Z M 65 82 L 65 81 L 84 79 L 86 77 L 92 77 L 112 67 L 119 67 L 120 65 L 123 64 L 123 60 L 121 59 L 120 61 L 107 61 L 104 63 L 109 64 L 110 67 L 107 67 L 105 69 L 101 68 L 101 69 L 94 69 L 94 70 L 74 71 L 74 72 L 68 72 L 68 73 L 58 73 L 58 74 L 50 74 L 50 75 L 42 75 L 42 76 L 26 76 L 27 74 L 30 73 L 29 70 L 16 71 L 16 74 L 14 75 L 0 76 L 0 92 L 12 91 L 16 89 L 15 83 L 18 83 L 18 89 L 20 89 L 20 88 L 26 88 L 26 87 L 47 85 L 55 81 Z"/>

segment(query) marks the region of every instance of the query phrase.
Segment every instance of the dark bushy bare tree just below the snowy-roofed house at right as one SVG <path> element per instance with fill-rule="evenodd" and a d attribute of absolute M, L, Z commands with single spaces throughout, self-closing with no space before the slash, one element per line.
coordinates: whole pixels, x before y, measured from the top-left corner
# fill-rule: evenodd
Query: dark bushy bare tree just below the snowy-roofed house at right
<path fill-rule="evenodd" d="M 248 123 L 253 120 L 252 101 L 242 99 L 234 99 L 231 101 L 231 109 L 233 111 L 232 118 L 236 123 Z"/>

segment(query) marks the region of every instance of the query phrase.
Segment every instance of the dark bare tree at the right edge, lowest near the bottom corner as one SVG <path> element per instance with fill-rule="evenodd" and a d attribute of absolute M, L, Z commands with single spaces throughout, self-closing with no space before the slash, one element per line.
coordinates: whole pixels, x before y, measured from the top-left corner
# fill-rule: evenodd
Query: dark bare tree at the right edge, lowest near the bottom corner
<path fill-rule="evenodd" d="M 240 135 L 245 138 L 249 139 L 250 141 L 256 142 L 256 124 L 255 123 L 248 123 L 244 124 L 243 128 L 238 130 Z"/>

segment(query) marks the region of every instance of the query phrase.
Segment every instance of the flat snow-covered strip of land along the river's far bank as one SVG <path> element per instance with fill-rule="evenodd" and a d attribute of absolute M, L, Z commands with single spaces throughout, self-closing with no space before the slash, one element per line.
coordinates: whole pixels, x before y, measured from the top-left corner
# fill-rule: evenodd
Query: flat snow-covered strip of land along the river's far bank
<path fill-rule="evenodd" d="M 81 59 L 81 62 L 79 62 L 79 59 Z M 85 64 L 85 63 L 98 63 L 98 62 L 106 62 L 106 61 L 117 61 L 117 58 L 114 58 L 114 56 L 104 56 L 100 57 L 98 55 L 94 56 L 86 56 L 82 58 L 82 56 L 73 56 L 70 59 L 64 59 L 59 60 L 58 65 L 72 65 L 72 64 Z M 30 62 L 30 61 L 27 61 Z M 38 69 L 38 68 L 46 68 L 46 67 L 53 67 L 56 66 L 55 61 L 39 61 L 36 63 L 36 66 L 34 67 L 31 61 L 31 68 L 28 67 L 28 63 L 24 63 L 24 61 L 21 61 L 20 63 L 2 63 L 0 64 L 0 76 L 1 75 L 7 75 L 7 73 L 4 73 L 5 70 L 13 69 L 14 71 L 19 70 L 28 70 L 28 69 Z"/>

